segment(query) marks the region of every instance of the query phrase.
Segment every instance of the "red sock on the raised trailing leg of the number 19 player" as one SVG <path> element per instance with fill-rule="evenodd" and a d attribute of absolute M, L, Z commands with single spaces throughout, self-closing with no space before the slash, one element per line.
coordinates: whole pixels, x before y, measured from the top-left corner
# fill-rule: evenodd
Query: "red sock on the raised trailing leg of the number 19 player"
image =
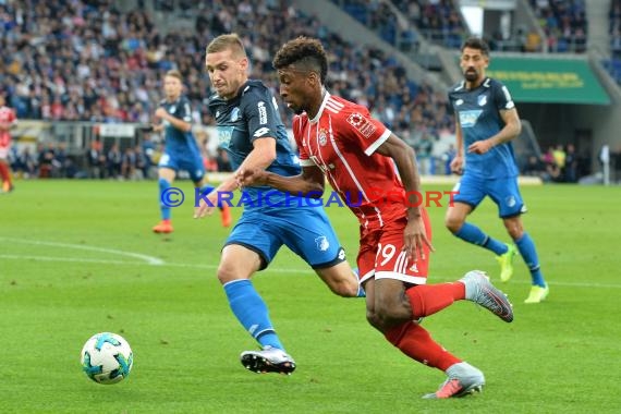
<path fill-rule="evenodd" d="M 405 291 L 412 305 L 412 319 L 434 315 L 465 297 L 465 285 L 461 282 L 419 284 Z"/>

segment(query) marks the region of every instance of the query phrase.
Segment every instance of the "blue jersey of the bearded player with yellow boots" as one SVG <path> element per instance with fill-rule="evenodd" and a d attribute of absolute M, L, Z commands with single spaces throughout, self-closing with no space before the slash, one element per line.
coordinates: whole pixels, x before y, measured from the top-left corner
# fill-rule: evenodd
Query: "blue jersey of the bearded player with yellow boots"
<path fill-rule="evenodd" d="M 465 81 L 449 92 L 449 101 L 462 127 L 465 174 L 485 179 L 502 179 L 518 175 L 513 145 L 504 143 L 486 154 L 467 153 L 467 147 L 496 135 L 504 121 L 501 110 L 515 108 L 507 86 L 490 77 L 474 89 L 466 89 Z"/>

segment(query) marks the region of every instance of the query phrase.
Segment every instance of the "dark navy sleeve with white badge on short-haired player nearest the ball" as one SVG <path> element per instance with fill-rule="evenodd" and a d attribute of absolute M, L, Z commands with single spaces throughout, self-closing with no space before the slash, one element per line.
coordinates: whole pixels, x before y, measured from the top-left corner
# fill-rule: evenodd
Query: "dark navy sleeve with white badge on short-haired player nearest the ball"
<path fill-rule="evenodd" d="M 268 136 L 276 138 L 278 110 L 273 96 L 267 89 L 253 88 L 242 99 L 251 143 Z"/>

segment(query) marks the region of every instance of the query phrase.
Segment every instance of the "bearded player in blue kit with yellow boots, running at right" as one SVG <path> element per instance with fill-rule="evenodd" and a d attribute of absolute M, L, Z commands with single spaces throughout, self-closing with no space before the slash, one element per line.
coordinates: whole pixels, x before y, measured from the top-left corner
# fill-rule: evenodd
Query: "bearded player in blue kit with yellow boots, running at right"
<path fill-rule="evenodd" d="M 522 224 L 521 215 L 526 207 L 518 187 L 518 167 L 511 145 L 522 125 L 507 87 L 486 76 L 488 64 L 489 48 L 485 41 L 467 39 L 460 61 L 464 81 L 449 93 L 456 118 L 458 139 L 458 155 L 451 169 L 463 176 L 455 187 L 459 194 L 447 211 L 446 224 L 458 238 L 496 253 L 501 266 L 500 279 L 508 281 L 513 275 L 515 247 L 465 222 L 466 216 L 489 196 L 498 205 L 499 216 L 531 270 L 533 284 L 524 302 L 539 303 L 548 295 L 549 288 L 541 273 L 535 243 Z"/>

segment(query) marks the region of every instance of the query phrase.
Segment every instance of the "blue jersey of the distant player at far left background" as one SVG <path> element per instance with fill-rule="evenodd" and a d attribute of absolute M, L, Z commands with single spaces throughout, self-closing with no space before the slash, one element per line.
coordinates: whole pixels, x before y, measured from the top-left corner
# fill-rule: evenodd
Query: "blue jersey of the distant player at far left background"
<path fill-rule="evenodd" d="M 165 99 L 159 106 L 166 109 L 172 117 L 192 123 L 192 108 L 190 107 L 190 100 L 185 96 L 181 96 L 174 102 L 169 102 Z M 192 131 L 183 132 L 165 121 L 165 151 L 171 157 L 176 155 L 187 157 L 188 153 L 193 156 L 200 155 Z"/>

